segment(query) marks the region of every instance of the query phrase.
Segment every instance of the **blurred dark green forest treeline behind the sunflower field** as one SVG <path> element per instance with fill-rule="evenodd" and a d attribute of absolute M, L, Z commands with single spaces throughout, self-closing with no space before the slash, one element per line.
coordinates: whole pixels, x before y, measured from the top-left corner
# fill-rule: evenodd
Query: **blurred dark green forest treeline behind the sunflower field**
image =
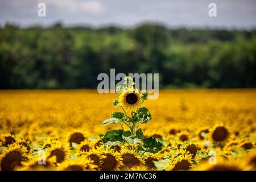
<path fill-rule="evenodd" d="M 159 73 L 160 88 L 255 88 L 256 30 L 0 28 L 0 89 L 97 88 L 110 68 Z"/>

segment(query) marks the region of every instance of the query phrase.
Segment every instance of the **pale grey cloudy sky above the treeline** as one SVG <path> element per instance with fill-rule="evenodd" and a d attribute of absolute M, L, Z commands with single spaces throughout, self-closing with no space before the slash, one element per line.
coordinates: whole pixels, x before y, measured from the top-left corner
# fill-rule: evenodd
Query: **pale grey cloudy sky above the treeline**
<path fill-rule="evenodd" d="M 46 17 L 38 16 L 38 4 L 46 4 Z M 217 5 L 217 17 L 208 15 L 209 3 Z M 104 26 L 133 27 L 160 22 L 170 27 L 255 28 L 255 0 L 0 0 L 0 26 L 6 22 L 27 27 Z"/>

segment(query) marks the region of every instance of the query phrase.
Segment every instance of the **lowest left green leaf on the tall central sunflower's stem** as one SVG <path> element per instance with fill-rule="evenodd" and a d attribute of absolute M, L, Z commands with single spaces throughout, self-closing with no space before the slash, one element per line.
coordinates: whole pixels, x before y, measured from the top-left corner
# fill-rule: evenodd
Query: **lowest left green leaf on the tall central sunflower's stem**
<path fill-rule="evenodd" d="M 115 146 L 119 143 L 125 142 L 122 138 L 123 130 L 110 130 L 105 133 L 105 135 L 100 134 L 102 142 L 108 146 Z"/>

